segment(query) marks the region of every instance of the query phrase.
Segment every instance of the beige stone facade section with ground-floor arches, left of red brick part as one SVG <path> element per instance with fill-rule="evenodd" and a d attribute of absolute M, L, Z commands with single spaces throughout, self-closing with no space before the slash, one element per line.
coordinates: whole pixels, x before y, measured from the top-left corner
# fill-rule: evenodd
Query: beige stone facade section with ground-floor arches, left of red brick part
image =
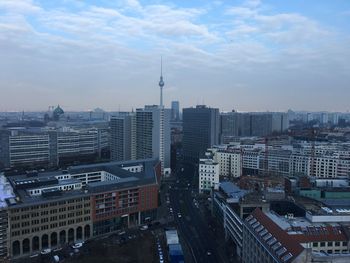
<path fill-rule="evenodd" d="M 9 207 L 10 256 L 30 255 L 45 248 L 90 238 L 90 196 L 76 195 Z"/>

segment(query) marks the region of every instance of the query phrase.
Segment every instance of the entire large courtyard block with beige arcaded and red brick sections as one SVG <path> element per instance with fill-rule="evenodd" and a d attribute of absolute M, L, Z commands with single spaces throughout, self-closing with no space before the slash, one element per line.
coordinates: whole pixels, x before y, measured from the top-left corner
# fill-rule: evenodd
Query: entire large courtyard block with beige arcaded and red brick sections
<path fill-rule="evenodd" d="M 159 178 L 155 159 L 11 176 L 9 188 L 0 191 L 2 258 L 29 256 L 153 220 Z"/>

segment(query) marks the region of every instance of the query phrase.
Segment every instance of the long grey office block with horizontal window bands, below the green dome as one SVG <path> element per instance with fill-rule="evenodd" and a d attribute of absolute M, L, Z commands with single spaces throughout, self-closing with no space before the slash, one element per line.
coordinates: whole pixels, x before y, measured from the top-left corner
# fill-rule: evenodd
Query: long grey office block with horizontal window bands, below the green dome
<path fill-rule="evenodd" d="M 109 148 L 109 131 L 98 128 L 0 130 L 0 139 L 0 163 L 5 168 L 55 167 L 67 160 L 101 156 Z"/>

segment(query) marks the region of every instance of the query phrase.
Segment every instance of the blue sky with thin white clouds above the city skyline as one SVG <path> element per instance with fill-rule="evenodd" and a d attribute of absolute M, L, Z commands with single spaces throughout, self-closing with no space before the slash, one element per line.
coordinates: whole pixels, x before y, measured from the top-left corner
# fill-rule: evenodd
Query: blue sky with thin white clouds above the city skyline
<path fill-rule="evenodd" d="M 0 111 L 349 111 L 350 1 L 0 0 Z"/>

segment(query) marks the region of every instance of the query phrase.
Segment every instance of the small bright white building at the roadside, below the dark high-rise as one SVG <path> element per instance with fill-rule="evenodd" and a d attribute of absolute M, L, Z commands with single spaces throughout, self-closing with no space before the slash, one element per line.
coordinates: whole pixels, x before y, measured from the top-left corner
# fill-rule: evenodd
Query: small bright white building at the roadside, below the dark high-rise
<path fill-rule="evenodd" d="M 219 188 L 219 163 L 213 159 L 200 159 L 199 160 L 199 192 L 210 191 L 212 187 L 214 189 Z"/>

